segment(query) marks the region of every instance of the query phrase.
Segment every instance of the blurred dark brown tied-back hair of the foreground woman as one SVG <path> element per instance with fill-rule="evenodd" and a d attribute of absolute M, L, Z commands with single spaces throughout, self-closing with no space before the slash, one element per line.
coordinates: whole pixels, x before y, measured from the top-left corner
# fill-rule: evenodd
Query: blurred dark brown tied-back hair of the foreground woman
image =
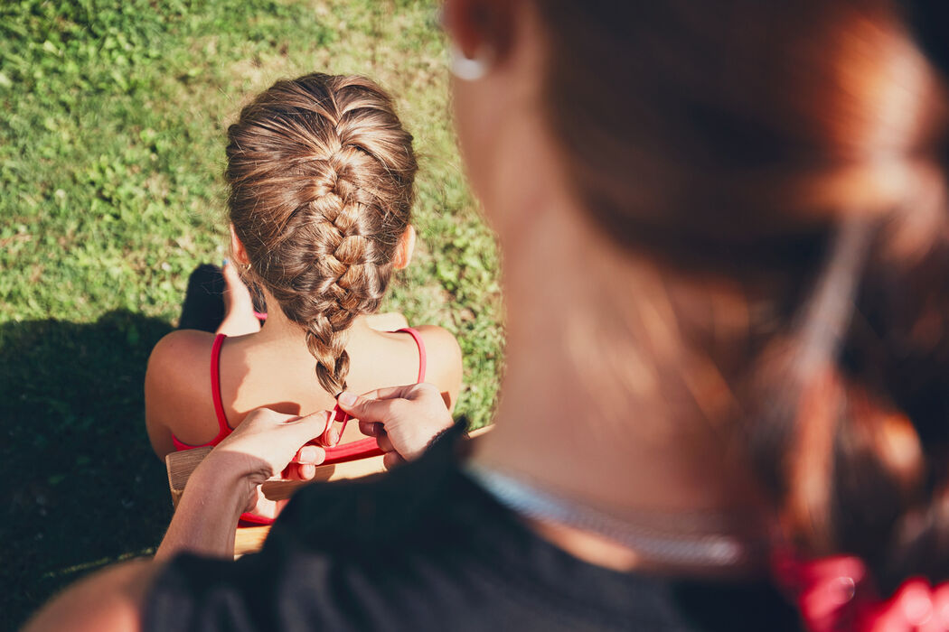
<path fill-rule="evenodd" d="M 949 577 L 946 86 L 901 6 L 532 5 L 594 222 L 747 298 L 740 334 L 679 331 L 794 544 L 859 554 L 884 586 Z"/>

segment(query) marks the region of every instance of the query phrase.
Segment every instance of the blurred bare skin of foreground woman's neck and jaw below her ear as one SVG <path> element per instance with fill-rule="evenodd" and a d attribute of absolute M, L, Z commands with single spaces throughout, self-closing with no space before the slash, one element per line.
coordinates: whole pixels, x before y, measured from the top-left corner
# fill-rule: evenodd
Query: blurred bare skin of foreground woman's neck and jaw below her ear
<path fill-rule="evenodd" d="M 542 61 L 520 62 L 520 76 L 543 75 L 528 72 Z M 495 429 L 475 445 L 475 464 L 621 514 L 755 512 L 754 483 L 721 439 L 730 433 L 696 404 L 709 385 L 727 397 L 726 381 L 682 348 L 663 280 L 591 226 L 544 122 L 546 93 L 518 85 L 484 103 L 497 113 L 490 133 L 462 138 L 504 253 L 508 313 Z M 457 116 L 477 129 L 460 105 L 482 93 L 464 83 L 456 93 Z M 637 564 L 635 551 L 590 533 L 535 526 L 589 561 Z"/>

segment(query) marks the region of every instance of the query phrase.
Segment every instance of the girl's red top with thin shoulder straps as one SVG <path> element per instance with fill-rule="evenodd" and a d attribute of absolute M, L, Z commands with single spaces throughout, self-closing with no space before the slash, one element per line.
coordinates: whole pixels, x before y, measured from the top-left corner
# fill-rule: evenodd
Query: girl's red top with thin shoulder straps
<path fill-rule="evenodd" d="M 425 342 L 421 339 L 421 334 L 411 327 L 405 327 L 403 329 L 397 330 L 396 333 L 409 334 L 412 336 L 412 339 L 415 340 L 416 345 L 419 347 L 419 382 L 425 381 Z M 221 347 L 224 345 L 224 339 L 228 337 L 227 334 L 217 334 L 214 337 L 214 345 L 211 347 L 211 397 L 214 400 L 214 414 L 217 416 L 217 435 L 210 442 L 201 443 L 200 445 L 191 445 L 189 443 L 182 442 L 172 434 L 172 442 L 175 443 L 175 449 L 180 452 L 182 450 L 191 450 L 195 447 L 206 447 L 214 446 L 218 443 L 224 441 L 224 438 L 230 435 L 233 432 L 231 424 L 228 424 L 227 413 L 224 412 L 224 403 L 221 400 L 221 368 L 220 368 L 220 359 L 221 359 Z M 347 460 L 356 460 L 363 459 L 365 457 L 375 457 L 382 454 L 382 451 L 379 449 L 379 445 L 376 443 L 376 440 L 372 437 L 367 437 L 355 442 L 344 443 L 343 445 L 336 445 L 333 447 L 326 447 L 326 460 L 323 461 L 325 465 L 332 463 L 342 463 Z M 244 514 L 241 515 L 241 521 L 252 523 L 252 524 L 270 524 L 273 522 L 272 518 L 266 518 L 260 515 L 253 514 Z"/>

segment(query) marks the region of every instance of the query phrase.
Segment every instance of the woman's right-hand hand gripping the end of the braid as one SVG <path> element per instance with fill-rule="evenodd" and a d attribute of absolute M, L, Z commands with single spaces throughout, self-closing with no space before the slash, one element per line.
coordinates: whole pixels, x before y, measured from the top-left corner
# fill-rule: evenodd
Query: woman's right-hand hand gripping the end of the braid
<path fill-rule="evenodd" d="M 337 402 L 360 421 L 364 435 L 379 442 L 386 468 L 417 458 L 454 423 L 441 393 L 431 384 L 378 388 L 360 397 L 343 392 Z"/>

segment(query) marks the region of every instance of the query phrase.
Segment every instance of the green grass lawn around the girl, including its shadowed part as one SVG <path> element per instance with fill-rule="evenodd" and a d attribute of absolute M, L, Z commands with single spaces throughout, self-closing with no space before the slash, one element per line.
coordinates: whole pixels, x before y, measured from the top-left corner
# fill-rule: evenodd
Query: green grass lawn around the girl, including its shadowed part
<path fill-rule="evenodd" d="M 154 550 L 171 513 L 145 361 L 226 256 L 225 126 L 272 81 L 359 73 L 421 155 L 419 252 L 385 310 L 456 333 L 459 413 L 493 406 L 497 255 L 459 165 L 434 2 L 0 3 L 0 628 Z"/>

